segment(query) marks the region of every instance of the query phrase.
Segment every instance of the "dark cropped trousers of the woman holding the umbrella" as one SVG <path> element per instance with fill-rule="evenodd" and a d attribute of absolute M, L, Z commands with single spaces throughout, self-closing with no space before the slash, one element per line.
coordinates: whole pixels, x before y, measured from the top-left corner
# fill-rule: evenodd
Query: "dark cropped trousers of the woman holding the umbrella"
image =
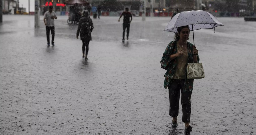
<path fill-rule="evenodd" d="M 168 89 L 169 89 L 169 99 L 170 99 L 170 110 L 169 115 L 171 117 L 177 117 L 179 114 L 179 101 L 180 101 L 180 91 L 181 91 L 181 105 L 182 105 L 182 121 L 190 122 L 191 113 L 191 94 L 192 92 L 183 92 L 184 81 L 172 79 Z"/>

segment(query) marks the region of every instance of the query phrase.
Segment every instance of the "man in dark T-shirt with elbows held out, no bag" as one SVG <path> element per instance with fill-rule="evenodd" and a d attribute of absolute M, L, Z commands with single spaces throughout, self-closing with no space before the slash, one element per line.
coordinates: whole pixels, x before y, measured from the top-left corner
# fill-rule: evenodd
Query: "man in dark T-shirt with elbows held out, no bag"
<path fill-rule="evenodd" d="M 131 13 L 129 12 L 129 8 L 126 7 L 125 8 L 125 11 L 122 12 L 121 16 L 119 17 L 118 19 L 118 22 L 120 22 L 120 19 L 121 17 L 124 16 L 124 22 L 123 22 L 123 39 L 122 39 L 122 42 L 125 41 L 125 30 L 126 30 L 126 37 L 127 37 L 127 40 L 129 39 L 129 32 L 130 32 L 130 22 L 132 20 L 132 15 Z M 130 20 L 131 18 L 131 20 Z"/>

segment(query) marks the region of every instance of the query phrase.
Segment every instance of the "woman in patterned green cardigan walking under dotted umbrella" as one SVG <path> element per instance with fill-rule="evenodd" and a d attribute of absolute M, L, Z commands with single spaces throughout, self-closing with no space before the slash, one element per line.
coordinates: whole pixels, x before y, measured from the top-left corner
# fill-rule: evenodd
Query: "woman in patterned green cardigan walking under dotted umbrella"
<path fill-rule="evenodd" d="M 161 67 L 166 70 L 164 75 L 164 87 L 169 89 L 170 110 L 173 128 L 178 126 L 179 100 L 181 92 L 182 122 L 185 123 L 185 133 L 190 133 L 191 94 L 193 90 L 192 79 L 187 79 L 188 63 L 199 62 L 198 50 L 193 44 L 187 42 L 190 29 L 188 26 L 178 27 L 175 33 L 175 41 L 171 41 L 166 47 L 160 61 Z"/>

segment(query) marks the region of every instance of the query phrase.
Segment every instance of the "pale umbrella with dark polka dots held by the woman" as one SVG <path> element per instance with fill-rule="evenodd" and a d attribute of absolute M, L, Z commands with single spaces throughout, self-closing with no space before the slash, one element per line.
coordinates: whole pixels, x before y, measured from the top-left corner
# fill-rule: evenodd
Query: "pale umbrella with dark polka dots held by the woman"
<path fill-rule="evenodd" d="M 194 30 L 214 29 L 215 27 L 224 25 L 209 12 L 192 10 L 176 14 L 167 24 L 164 31 L 177 33 L 178 27 L 182 26 L 189 26 L 190 31 L 193 31 L 194 40 Z"/>

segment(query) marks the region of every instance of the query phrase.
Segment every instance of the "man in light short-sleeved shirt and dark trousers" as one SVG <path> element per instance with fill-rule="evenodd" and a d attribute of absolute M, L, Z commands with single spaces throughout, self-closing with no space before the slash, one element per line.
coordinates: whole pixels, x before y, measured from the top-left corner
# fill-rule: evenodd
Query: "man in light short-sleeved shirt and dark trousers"
<path fill-rule="evenodd" d="M 52 11 L 53 7 L 49 6 L 49 11 L 44 13 L 44 24 L 46 26 L 46 37 L 47 37 L 47 46 L 50 46 L 50 31 L 52 33 L 52 46 L 54 46 L 54 19 L 57 19 L 56 13 Z"/>

